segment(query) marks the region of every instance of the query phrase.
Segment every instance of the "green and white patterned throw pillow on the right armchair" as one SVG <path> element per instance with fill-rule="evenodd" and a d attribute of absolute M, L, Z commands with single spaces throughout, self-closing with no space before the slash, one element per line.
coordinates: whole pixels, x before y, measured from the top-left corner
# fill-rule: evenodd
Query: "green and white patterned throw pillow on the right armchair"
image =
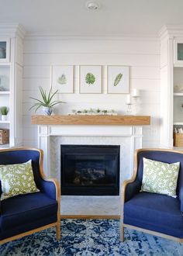
<path fill-rule="evenodd" d="M 141 192 L 151 192 L 176 197 L 180 162 L 167 164 L 143 157 L 143 182 Z"/>

